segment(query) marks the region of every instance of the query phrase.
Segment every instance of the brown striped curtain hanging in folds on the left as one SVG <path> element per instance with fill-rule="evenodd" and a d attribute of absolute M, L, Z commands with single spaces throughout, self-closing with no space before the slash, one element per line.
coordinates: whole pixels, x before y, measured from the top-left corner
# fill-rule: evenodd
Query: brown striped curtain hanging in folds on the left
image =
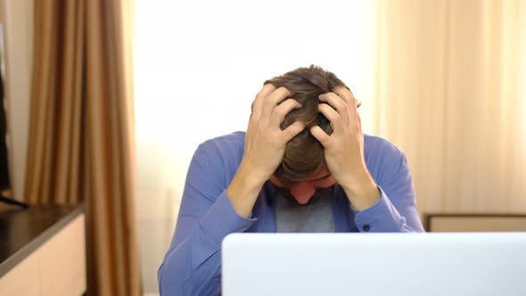
<path fill-rule="evenodd" d="M 87 294 L 140 295 L 125 0 L 35 1 L 25 199 L 86 204 Z"/>

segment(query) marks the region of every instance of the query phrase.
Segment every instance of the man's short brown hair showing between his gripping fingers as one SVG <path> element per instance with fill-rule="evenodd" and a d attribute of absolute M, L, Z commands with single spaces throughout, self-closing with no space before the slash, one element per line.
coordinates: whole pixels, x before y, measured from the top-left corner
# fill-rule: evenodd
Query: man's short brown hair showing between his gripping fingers
<path fill-rule="evenodd" d="M 331 92 L 336 86 L 344 86 L 347 89 L 349 87 L 332 72 L 315 65 L 292 70 L 269 79 L 264 84 L 268 83 L 275 87 L 287 88 L 292 93 L 289 98 L 298 101 L 302 106 L 287 114 L 281 125 L 283 130 L 294 121 L 300 121 L 305 124 L 305 129 L 287 143 L 284 159 L 274 173 L 284 185 L 292 185 L 317 173 L 325 166 L 324 147 L 310 134 L 310 127 L 316 125 L 328 135 L 333 133 L 329 120 L 317 110 L 318 104 L 321 103 L 318 95 Z"/>

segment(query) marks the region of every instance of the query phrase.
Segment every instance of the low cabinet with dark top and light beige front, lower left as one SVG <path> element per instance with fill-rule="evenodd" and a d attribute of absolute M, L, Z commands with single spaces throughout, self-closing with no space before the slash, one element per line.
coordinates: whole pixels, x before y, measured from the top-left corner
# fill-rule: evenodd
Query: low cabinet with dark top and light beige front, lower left
<path fill-rule="evenodd" d="M 86 292 L 84 205 L 0 213 L 0 295 Z"/>

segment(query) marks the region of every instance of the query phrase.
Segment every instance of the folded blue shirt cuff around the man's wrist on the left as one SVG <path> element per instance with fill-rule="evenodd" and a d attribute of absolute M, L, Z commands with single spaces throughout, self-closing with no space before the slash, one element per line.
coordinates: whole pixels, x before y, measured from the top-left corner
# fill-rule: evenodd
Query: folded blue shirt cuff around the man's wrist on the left
<path fill-rule="evenodd" d="M 218 200 L 201 219 L 201 228 L 214 243 L 221 245 L 227 234 L 241 233 L 257 220 L 257 218 L 247 219 L 239 216 L 225 191 L 219 195 Z"/>

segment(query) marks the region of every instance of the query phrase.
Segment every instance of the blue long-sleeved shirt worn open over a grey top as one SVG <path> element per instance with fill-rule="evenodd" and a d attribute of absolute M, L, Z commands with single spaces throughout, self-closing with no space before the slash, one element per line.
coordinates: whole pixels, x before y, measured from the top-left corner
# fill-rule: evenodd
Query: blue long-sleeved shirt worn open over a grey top
<path fill-rule="evenodd" d="M 160 295 L 218 295 L 223 238 L 231 233 L 275 232 L 276 188 L 271 182 L 261 189 L 251 218 L 239 216 L 226 196 L 242 160 L 244 136 L 244 132 L 236 132 L 211 139 L 194 153 L 176 231 L 158 271 Z M 405 155 L 388 141 L 367 135 L 364 154 L 382 197 L 369 209 L 357 211 L 336 184 L 332 206 L 335 231 L 422 232 Z"/>

